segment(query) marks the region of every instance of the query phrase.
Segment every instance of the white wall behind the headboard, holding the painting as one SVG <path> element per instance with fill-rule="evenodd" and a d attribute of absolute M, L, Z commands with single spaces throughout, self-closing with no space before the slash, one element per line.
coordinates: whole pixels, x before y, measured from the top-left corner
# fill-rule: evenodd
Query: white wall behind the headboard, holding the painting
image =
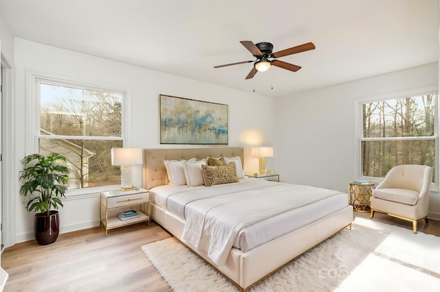
<path fill-rule="evenodd" d="M 91 82 L 118 84 L 131 91 L 131 147 L 207 147 L 203 145 L 160 145 L 159 94 L 213 101 L 229 106 L 229 146 L 252 147 L 272 141 L 271 117 L 273 99 L 252 92 L 243 92 L 183 77 L 142 69 L 137 66 L 104 60 L 82 53 L 58 49 L 36 42 L 15 39 L 16 66 L 16 127 L 17 139 L 17 190 L 19 189 L 19 161 L 26 154 L 25 145 L 25 78 L 29 71 L 60 74 Z M 36 149 L 34 149 L 36 151 Z M 248 153 L 246 150 L 245 153 Z M 256 158 L 251 158 L 251 161 Z M 255 162 L 258 165 L 258 161 Z M 245 169 L 252 166 L 245 165 Z M 141 167 L 135 168 L 134 183 L 142 185 Z M 18 196 L 17 193 L 11 194 Z M 33 239 L 33 214 L 28 214 L 17 199 L 17 242 Z M 67 199 L 61 209 L 61 232 L 99 225 L 98 194 Z"/>

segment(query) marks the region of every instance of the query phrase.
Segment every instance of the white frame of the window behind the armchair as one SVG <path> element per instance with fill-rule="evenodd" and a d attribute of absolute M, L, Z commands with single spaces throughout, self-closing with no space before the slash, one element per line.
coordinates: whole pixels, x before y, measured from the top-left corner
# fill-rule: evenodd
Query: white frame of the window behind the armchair
<path fill-rule="evenodd" d="M 415 97 L 420 95 L 435 94 L 435 108 L 434 108 L 434 136 L 429 137 L 429 139 L 434 139 L 435 141 L 435 183 L 431 184 L 431 191 L 439 191 L 439 89 L 437 85 L 423 86 L 420 88 L 415 88 L 412 90 L 402 90 L 393 93 L 387 93 L 383 95 L 369 95 L 365 97 L 358 97 L 354 100 L 354 170 L 355 179 L 360 180 L 370 180 L 378 184 L 382 182 L 383 178 L 373 178 L 364 176 L 362 174 L 362 141 L 408 141 L 408 140 L 423 140 L 428 139 L 426 137 L 388 137 L 388 138 L 364 138 L 364 129 L 362 125 L 363 111 L 362 106 L 366 103 L 386 101 L 390 99 L 402 99 L 406 97 Z"/>

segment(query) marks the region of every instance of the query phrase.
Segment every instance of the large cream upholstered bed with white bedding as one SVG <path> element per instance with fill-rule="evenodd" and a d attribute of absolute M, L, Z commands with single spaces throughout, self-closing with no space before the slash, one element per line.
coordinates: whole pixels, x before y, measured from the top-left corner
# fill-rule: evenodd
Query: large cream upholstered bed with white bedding
<path fill-rule="evenodd" d="M 234 165 L 239 179 L 187 186 L 176 185 L 173 178 L 170 186 L 165 161 L 195 158 L 191 164 L 195 165 L 208 157 L 230 158 L 228 165 L 238 162 Z M 347 194 L 337 191 L 245 178 L 242 169 L 239 173 L 242 165 L 243 148 L 239 147 L 144 149 L 143 186 L 151 192 L 151 218 L 246 291 L 311 247 L 351 227 L 353 208 Z M 287 210 L 281 205 L 288 206 Z"/>

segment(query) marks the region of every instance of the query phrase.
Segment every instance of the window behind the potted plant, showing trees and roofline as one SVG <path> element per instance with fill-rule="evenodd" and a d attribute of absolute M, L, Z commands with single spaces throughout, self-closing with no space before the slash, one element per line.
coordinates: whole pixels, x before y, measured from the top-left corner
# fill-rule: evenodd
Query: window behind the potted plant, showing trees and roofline
<path fill-rule="evenodd" d="M 111 148 L 124 144 L 125 93 L 56 80 L 36 80 L 39 101 L 36 144 L 41 155 L 69 160 L 69 189 L 120 184 Z"/>

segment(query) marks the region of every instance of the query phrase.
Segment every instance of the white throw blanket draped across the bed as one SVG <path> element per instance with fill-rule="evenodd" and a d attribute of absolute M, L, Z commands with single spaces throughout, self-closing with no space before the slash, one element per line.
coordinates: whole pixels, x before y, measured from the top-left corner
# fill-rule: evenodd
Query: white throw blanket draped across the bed
<path fill-rule="evenodd" d="M 244 185 L 244 186 L 243 186 Z M 203 234 L 209 237 L 208 257 L 224 265 L 240 230 L 283 212 L 313 204 L 338 191 L 296 184 L 255 180 L 225 188 L 215 195 L 189 195 L 185 206 L 186 223 L 182 239 L 199 248 Z M 226 191 L 228 190 L 228 191 Z M 270 197 L 270 199 L 268 199 Z"/>

